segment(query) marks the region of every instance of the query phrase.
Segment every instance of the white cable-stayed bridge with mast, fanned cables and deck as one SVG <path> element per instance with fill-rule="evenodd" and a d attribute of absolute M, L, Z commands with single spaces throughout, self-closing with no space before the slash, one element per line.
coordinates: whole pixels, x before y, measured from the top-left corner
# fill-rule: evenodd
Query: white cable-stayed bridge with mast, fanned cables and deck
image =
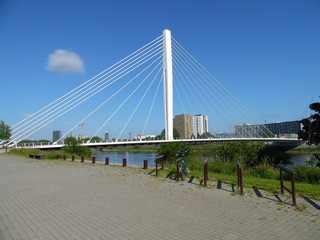
<path fill-rule="evenodd" d="M 259 121 L 171 37 L 169 30 L 164 30 L 161 36 L 13 125 L 9 145 L 17 146 L 22 140 L 48 129 L 60 119 L 69 121 L 72 127 L 52 145 L 37 147 L 62 147 L 63 144 L 59 143 L 88 121 L 94 123 L 95 130 L 82 143 L 85 146 L 141 144 L 140 141 L 123 140 L 128 131 L 131 135 L 130 129 L 133 128 L 140 135 L 160 133 L 165 129 L 164 140 L 143 141 L 144 144 L 177 141 L 173 137 L 174 115 L 199 113 L 208 116 L 209 132 L 213 136 L 223 132 L 225 137 L 194 139 L 195 136 L 190 136 L 190 139 L 178 141 L 299 142 L 296 139 L 274 138 L 274 134 L 265 127 L 263 131 L 260 128 L 256 132 L 252 127 L 245 136 L 235 138 L 234 126 L 259 124 Z M 99 115 L 104 118 L 97 121 Z M 113 142 L 91 142 L 93 137 L 110 129 L 117 135 Z"/>

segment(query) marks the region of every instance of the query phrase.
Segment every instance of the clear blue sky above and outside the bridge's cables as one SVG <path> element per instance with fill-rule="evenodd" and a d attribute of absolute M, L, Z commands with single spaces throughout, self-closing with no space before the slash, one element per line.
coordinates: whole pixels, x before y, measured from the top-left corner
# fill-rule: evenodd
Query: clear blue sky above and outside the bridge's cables
<path fill-rule="evenodd" d="M 319 0 L 1 0 L 0 119 L 15 124 L 170 29 L 261 122 L 299 120 L 319 101 L 319 13 Z M 59 49 L 83 65 L 50 69 Z M 51 139 L 73 118 L 32 138 Z M 105 130 L 114 136 L 113 129 Z M 159 120 L 148 133 L 162 129 Z"/>

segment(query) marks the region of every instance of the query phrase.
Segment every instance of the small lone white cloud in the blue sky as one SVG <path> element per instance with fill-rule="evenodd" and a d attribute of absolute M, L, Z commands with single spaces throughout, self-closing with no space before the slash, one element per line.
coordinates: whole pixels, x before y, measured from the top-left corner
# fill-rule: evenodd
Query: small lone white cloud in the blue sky
<path fill-rule="evenodd" d="M 47 70 L 60 73 L 83 73 L 84 64 L 78 54 L 57 49 L 48 56 Z"/>

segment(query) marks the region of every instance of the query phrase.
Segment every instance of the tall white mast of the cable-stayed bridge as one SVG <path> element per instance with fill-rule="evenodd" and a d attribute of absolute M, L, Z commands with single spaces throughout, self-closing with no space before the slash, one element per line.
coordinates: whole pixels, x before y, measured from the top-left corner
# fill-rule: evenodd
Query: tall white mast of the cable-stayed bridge
<path fill-rule="evenodd" d="M 173 139 L 173 93 L 171 32 L 163 31 L 163 95 L 166 140 Z"/>

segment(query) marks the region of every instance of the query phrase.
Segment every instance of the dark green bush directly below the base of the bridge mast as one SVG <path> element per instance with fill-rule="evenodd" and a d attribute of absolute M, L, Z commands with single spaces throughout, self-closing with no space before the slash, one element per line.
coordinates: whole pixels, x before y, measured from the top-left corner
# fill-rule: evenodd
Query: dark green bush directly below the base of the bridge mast
<path fill-rule="evenodd" d="M 169 163 L 174 163 L 178 158 L 178 153 L 180 150 L 191 150 L 191 145 L 185 142 L 178 143 L 161 143 L 158 149 L 158 155 L 164 155 L 165 159 Z"/>

